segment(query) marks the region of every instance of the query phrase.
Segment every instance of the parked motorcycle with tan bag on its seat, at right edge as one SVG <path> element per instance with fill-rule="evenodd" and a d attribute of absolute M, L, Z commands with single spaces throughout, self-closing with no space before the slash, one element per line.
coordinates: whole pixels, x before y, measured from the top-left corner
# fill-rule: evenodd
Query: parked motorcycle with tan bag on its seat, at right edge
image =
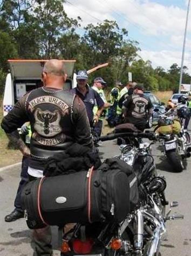
<path fill-rule="evenodd" d="M 181 103 L 176 108 L 180 105 Z M 169 109 L 165 114 L 159 116 L 154 132 L 158 133 L 158 140 L 162 141 L 162 151 L 174 172 L 182 172 L 185 168 L 184 160 L 190 157 L 191 140 L 189 133 L 183 128 L 183 120 L 176 120 L 176 108 Z M 158 109 L 154 109 L 154 111 L 158 111 Z"/>

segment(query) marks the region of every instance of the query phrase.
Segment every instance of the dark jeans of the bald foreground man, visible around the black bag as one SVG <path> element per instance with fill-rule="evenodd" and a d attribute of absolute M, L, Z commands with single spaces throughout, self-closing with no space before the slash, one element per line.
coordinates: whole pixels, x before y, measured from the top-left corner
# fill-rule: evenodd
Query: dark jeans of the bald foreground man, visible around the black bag
<path fill-rule="evenodd" d="M 36 180 L 36 177 L 29 175 L 29 180 Z M 52 232 L 51 227 L 33 229 L 32 233 L 32 248 L 33 256 L 51 256 L 52 255 Z"/>

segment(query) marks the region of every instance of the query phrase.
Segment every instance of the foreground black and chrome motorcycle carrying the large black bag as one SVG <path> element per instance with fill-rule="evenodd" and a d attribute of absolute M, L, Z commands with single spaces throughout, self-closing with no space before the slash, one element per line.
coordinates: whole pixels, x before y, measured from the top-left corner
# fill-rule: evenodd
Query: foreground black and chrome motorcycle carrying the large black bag
<path fill-rule="evenodd" d="M 101 141 L 117 138 L 148 138 L 155 140 L 153 133 L 115 133 L 101 137 Z M 131 208 L 126 218 L 118 222 L 78 223 L 63 239 L 61 255 L 128 255 L 159 256 L 160 242 L 166 233 L 167 220 L 183 219 L 183 215 L 169 215 L 171 208 L 178 206 L 174 201 L 165 215 L 168 202 L 165 199 L 166 180 L 156 174 L 154 160 L 149 154 L 151 143 L 140 148 L 130 183 L 138 182 L 139 201 Z M 148 157 L 151 161 L 148 162 Z M 125 160 L 125 159 L 124 159 Z M 127 166 L 127 168 L 129 168 Z M 131 168 L 131 167 L 130 167 Z M 131 193 L 131 192 L 130 192 Z M 112 209 L 111 209 L 112 210 Z"/>

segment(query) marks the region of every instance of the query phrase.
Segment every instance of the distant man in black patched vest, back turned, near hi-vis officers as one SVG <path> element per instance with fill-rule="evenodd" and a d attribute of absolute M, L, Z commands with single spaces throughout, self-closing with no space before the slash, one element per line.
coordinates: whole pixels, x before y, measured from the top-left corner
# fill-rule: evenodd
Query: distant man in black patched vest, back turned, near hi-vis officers
<path fill-rule="evenodd" d="M 151 100 L 144 95 L 141 85 L 134 87 L 133 94 L 126 97 L 122 110 L 125 115 L 125 123 L 133 123 L 139 130 L 144 131 L 149 117 L 152 115 L 153 106 Z"/>

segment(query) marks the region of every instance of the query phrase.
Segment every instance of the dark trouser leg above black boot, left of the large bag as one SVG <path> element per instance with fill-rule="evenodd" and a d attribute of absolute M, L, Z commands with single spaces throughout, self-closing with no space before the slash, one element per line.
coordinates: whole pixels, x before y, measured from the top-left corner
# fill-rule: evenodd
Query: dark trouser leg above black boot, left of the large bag
<path fill-rule="evenodd" d="M 21 192 L 26 183 L 29 181 L 29 175 L 28 175 L 28 167 L 29 167 L 29 158 L 23 156 L 22 159 L 22 167 L 21 167 L 21 181 L 19 182 L 17 194 L 14 202 L 14 206 L 19 212 L 23 212 L 22 206 L 21 206 Z"/>

